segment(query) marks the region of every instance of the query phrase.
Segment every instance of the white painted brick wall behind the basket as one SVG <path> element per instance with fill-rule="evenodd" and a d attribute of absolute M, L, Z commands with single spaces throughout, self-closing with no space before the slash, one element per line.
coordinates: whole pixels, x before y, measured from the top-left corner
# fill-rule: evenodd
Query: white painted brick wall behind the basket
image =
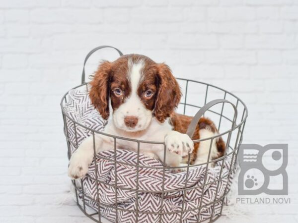
<path fill-rule="evenodd" d="M 297 0 L 0 0 L 0 222 L 90 222 L 73 201 L 59 205 L 69 182 L 59 103 L 99 45 L 242 98 L 244 142 L 289 143 L 291 157 L 292 204 L 248 221 L 298 221 Z"/>

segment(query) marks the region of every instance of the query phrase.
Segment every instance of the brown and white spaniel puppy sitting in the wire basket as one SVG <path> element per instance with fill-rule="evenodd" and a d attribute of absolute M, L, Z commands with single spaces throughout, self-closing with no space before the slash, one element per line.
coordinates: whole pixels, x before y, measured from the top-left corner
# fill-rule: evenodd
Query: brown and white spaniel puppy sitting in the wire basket
<path fill-rule="evenodd" d="M 101 116 L 108 119 L 104 133 L 166 145 L 165 164 L 179 167 L 191 153 L 191 164 L 208 160 L 210 140 L 194 145 L 185 134 L 190 116 L 174 112 L 178 106 L 180 87 L 164 63 L 155 63 L 147 56 L 125 55 L 114 62 L 102 62 L 90 83 L 89 96 Z M 201 118 L 193 139 L 218 134 L 214 123 Z M 95 134 L 96 153 L 114 148 L 114 140 Z M 117 148 L 137 151 L 136 142 L 117 139 Z M 211 159 L 224 154 L 224 141 L 214 140 Z M 164 147 L 160 144 L 140 144 L 140 153 L 163 161 Z M 183 158 L 184 157 L 184 158 Z M 93 137 L 86 138 L 71 157 L 68 175 L 83 177 L 93 160 Z"/>

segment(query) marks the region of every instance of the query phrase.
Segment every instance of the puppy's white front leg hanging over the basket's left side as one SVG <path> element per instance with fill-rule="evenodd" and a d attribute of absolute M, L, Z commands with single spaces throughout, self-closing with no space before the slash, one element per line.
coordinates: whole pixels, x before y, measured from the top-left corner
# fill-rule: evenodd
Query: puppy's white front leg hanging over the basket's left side
<path fill-rule="evenodd" d="M 107 142 L 99 134 L 94 135 L 94 140 L 96 153 L 111 147 L 111 145 L 105 145 Z M 93 136 L 91 135 L 80 144 L 72 155 L 69 162 L 68 175 L 72 179 L 83 177 L 88 172 L 88 167 L 93 160 L 93 154 Z"/>

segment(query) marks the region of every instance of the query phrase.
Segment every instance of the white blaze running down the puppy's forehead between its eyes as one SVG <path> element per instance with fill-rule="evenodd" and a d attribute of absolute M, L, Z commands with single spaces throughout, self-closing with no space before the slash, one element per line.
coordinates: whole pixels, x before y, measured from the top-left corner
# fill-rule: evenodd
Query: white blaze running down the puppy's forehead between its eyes
<path fill-rule="evenodd" d="M 138 86 L 141 79 L 141 73 L 142 69 L 144 67 L 144 61 L 138 61 L 137 63 L 133 63 L 131 60 L 128 61 L 129 64 L 129 77 L 130 77 L 130 83 L 132 87 L 132 95 L 137 94 Z"/>

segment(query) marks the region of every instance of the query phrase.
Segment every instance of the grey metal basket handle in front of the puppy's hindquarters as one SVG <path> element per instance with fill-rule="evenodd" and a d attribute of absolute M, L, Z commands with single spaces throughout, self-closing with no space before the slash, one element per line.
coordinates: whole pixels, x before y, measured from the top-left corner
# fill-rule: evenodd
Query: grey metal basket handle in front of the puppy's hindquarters
<path fill-rule="evenodd" d="M 193 135 L 194 135 L 194 133 L 195 133 L 195 130 L 196 130 L 196 127 L 197 127 L 197 124 L 198 124 L 200 118 L 203 116 L 203 114 L 204 114 L 207 110 L 209 110 L 211 107 L 213 107 L 214 105 L 217 105 L 217 104 L 219 104 L 219 103 L 228 103 L 228 104 L 231 104 L 231 106 L 232 106 L 233 109 L 234 109 L 234 119 L 233 119 L 232 129 L 235 127 L 236 119 L 237 119 L 237 114 L 238 114 L 236 106 L 235 106 L 233 103 L 231 103 L 231 102 L 229 102 L 229 101 L 227 101 L 227 100 L 225 100 L 225 99 L 216 99 L 216 100 L 213 100 L 213 101 L 211 101 L 211 102 L 208 102 L 205 106 L 203 106 L 203 107 L 202 107 L 202 108 L 195 114 L 195 116 L 194 116 L 193 119 L 191 120 L 191 122 L 190 122 L 190 124 L 189 124 L 189 126 L 188 126 L 188 128 L 187 128 L 187 131 L 186 131 L 186 134 L 187 134 L 190 138 L 193 137 Z"/>

